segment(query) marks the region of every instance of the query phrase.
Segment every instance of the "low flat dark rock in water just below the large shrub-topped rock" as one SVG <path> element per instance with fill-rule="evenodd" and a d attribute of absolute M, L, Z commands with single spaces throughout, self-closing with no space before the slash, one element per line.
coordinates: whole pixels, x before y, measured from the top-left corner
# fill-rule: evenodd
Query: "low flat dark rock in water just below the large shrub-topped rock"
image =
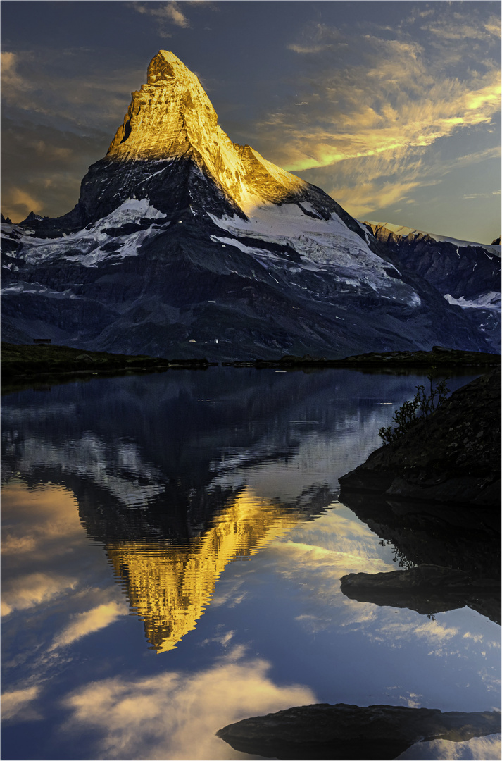
<path fill-rule="evenodd" d="M 500 580 L 472 578 L 467 572 L 441 565 L 418 565 L 388 573 L 342 576 L 346 597 L 360 603 L 409 608 L 422 615 L 466 605 L 500 624 Z"/>

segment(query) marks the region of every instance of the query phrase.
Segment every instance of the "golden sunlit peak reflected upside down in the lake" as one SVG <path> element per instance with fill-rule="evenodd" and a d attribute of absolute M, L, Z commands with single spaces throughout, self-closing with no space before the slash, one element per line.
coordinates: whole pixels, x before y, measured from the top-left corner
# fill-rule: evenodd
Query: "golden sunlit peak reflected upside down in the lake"
<path fill-rule="evenodd" d="M 113 542 L 106 552 L 129 594 L 132 611 L 145 621 L 145 635 L 158 653 L 176 643 L 202 616 L 227 563 L 255 555 L 301 520 L 297 511 L 244 489 L 227 502 L 201 537 L 185 544 Z"/>

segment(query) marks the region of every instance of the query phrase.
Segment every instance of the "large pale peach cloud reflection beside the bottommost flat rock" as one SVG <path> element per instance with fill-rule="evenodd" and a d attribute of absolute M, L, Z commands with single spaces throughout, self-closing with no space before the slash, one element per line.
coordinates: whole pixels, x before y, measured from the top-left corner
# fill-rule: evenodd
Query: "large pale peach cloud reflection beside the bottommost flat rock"
<path fill-rule="evenodd" d="M 244 660 L 239 648 L 234 658 L 191 674 L 90 683 L 65 699 L 72 712 L 67 728 L 92 733 L 100 758 L 231 759 L 235 753 L 215 737 L 218 729 L 316 702 L 307 687 L 276 686 L 269 670 L 267 661 Z"/>

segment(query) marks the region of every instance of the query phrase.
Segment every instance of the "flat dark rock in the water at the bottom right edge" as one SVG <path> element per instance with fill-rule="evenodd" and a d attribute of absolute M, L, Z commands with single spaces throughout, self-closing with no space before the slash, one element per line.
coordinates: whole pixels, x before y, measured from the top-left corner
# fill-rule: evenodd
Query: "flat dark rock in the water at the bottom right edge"
<path fill-rule="evenodd" d="M 500 731 L 500 713 L 442 713 L 398 705 L 303 705 L 229 724 L 235 750 L 278 759 L 392 759 L 421 740 L 459 742 Z"/>

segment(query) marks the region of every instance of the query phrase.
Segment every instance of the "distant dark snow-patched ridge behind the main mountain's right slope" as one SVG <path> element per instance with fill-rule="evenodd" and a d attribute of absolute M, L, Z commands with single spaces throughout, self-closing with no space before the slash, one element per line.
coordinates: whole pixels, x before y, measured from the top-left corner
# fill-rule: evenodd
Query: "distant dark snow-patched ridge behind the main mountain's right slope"
<path fill-rule="evenodd" d="M 450 304 L 457 304 L 500 352 L 500 237 L 490 246 L 395 224 L 364 222 L 368 231 Z"/>

